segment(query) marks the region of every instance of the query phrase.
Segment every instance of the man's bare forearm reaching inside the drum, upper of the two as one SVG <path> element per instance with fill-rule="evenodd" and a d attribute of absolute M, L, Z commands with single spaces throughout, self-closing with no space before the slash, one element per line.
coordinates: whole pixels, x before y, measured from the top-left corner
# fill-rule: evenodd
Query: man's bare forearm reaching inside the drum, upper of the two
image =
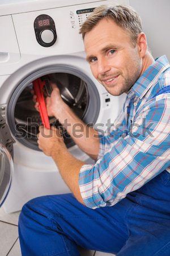
<path fill-rule="evenodd" d="M 88 127 L 62 100 L 56 84 L 51 84 L 53 92 L 46 98 L 46 110 L 49 116 L 54 116 L 65 127 L 71 138 L 81 150 L 96 159 L 99 154 L 99 136 L 97 131 Z M 34 98 L 36 101 L 36 97 Z M 38 110 L 38 103 L 36 103 Z M 78 131 L 79 130 L 79 131 Z"/>

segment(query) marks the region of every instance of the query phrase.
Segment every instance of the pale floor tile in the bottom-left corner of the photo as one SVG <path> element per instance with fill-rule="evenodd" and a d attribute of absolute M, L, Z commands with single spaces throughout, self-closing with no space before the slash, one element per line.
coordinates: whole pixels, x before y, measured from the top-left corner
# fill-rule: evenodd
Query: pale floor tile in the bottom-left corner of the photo
<path fill-rule="evenodd" d="M 18 238 L 18 226 L 0 221 L 0 230 L 1 256 L 6 256 Z"/>

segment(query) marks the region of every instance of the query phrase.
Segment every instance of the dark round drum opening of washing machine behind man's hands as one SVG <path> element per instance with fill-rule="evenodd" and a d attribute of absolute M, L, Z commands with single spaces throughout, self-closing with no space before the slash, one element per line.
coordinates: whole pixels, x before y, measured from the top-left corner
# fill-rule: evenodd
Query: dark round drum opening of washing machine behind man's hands
<path fill-rule="evenodd" d="M 87 86 L 88 80 L 71 73 L 49 73 L 39 78 L 57 84 L 63 101 L 73 112 L 85 123 L 95 123 L 100 110 L 100 98 L 95 85 L 91 83 Z M 32 89 L 32 82 L 24 81 L 16 88 L 8 105 L 8 123 L 14 137 L 24 146 L 39 150 L 36 135 L 39 133 L 41 118 L 32 100 Z M 49 117 L 49 122 L 60 130 L 68 148 L 74 145 L 70 134 L 58 119 Z"/>

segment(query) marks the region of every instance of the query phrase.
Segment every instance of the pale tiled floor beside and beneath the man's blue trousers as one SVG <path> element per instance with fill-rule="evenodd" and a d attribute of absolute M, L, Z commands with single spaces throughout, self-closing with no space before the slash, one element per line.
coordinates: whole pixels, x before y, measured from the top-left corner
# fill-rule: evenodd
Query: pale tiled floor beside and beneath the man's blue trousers
<path fill-rule="evenodd" d="M 20 212 L 6 214 L 3 207 L 0 208 L 0 255 L 21 256 L 18 238 L 18 217 Z M 86 251 L 80 249 L 82 256 L 113 256 L 113 254 L 100 251 Z M 74 256 L 74 255 L 73 255 Z"/>

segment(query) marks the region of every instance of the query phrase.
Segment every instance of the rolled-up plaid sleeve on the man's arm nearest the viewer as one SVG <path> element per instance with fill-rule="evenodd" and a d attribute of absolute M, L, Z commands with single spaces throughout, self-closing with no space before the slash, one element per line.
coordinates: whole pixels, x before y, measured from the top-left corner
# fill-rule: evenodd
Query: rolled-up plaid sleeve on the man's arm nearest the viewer
<path fill-rule="evenodd" d="M 94 166 L 80 170 L 80 193 L 87 207 L 114 205 L 169 167 L 170 101 L 158 97 L 143 106 L 126 137 L 113 142 Z"/>

